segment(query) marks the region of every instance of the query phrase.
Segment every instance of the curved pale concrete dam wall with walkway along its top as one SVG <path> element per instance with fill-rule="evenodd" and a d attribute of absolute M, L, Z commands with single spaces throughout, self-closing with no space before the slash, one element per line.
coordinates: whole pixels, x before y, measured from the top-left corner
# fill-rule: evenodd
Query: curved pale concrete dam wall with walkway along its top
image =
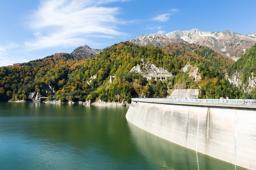
<path fill-rule="evenodd" d="M 256 169 L 256 101 L 132 98 L 127 120 L 177 145 Z"/>

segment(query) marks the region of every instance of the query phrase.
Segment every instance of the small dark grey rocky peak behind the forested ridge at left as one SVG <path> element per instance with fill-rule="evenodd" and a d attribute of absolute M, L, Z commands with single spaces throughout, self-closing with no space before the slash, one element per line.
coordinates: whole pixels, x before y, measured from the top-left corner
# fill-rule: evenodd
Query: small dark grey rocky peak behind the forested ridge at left
<path fill-rule="evenodd" d="M 88 45 L 84 45 L 76 48 L 73 52 L 71 52 L 71 55 L 74 55 L 79 60 L 83 60 L 83 59 L 95 57 L 101 51 L 102 50 L 92 49 Z"/>

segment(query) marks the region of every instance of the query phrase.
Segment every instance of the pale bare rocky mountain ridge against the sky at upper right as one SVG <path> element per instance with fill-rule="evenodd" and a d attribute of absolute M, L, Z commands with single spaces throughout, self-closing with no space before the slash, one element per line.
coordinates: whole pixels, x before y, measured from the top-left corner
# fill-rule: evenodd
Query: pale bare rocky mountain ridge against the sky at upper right
<path fill-rule="evenodd" d="M 233 60 L 238 60 L 245 51 L 256 43 L 256 33 L 242 35 L 230 30 L 223 32 L 192 30 L 176 30 L 166 34 L 150 34 L 132 38 L 138 45 L 156 45 L 163 47 L 170 42 L 189 42 L 206 45 L 211 49 Z"/>

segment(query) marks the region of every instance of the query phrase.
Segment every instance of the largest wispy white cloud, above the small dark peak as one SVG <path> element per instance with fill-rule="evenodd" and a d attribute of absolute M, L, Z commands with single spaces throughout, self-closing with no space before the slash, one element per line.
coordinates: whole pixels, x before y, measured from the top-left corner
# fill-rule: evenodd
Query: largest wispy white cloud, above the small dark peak
<path fill-rule="evenodd" d="M 115 16 L 119 8 L 102 4 L 124 0 L 44 0 L 32 17 L 35 39 L 25 42 L 31 50 L 56 46 L 77 46 L 94 36 L 124 35 Z"/>

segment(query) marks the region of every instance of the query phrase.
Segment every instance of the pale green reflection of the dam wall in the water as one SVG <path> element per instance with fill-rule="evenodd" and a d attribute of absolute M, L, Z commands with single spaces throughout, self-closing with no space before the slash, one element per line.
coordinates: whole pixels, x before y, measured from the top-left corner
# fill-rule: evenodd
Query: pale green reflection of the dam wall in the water
<path fill-rule="evenodd" d="M 155 162 L 159 169 L 235 169 L 235 166 L 222 162 L 218 159 L 208 157 L 204 154 L 181 147 L 160 137 L 151 135 L 144 130 L 128 123 L 132 134 L 132 141 L 147 159 Z M 237 167 L 238 169 L 238 167 Z"/>

